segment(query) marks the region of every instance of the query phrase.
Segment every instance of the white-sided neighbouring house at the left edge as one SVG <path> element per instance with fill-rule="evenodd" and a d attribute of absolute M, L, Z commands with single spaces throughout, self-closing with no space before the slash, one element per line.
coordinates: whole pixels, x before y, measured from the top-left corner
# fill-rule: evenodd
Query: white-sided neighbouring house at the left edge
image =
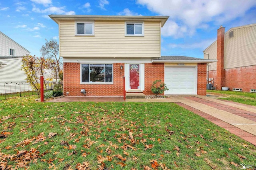
<path fill-rule="evenodd" d="M 30 54 L 27 49 L 0 31 L 0 94 L 5 93 L 5 82 L 26 82 L 21 60 L 27 54 Z"/>

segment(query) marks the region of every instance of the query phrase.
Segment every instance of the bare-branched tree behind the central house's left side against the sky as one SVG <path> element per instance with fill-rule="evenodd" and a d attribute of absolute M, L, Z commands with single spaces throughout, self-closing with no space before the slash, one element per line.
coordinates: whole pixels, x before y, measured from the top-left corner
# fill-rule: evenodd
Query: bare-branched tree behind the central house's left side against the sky
<path fill-rule="evenodd" d="M 45 39 L 45 45 L 42 46 L 40 49 L 40 52 L 42 53 L 43 57 L 48 57 L 54 59 L 56 61 L 58 72 L 61 71 L 61 57 L 59 56 L 59 45 L 55 39 L 50 39 L 50 41 L 47 41 Z"/>

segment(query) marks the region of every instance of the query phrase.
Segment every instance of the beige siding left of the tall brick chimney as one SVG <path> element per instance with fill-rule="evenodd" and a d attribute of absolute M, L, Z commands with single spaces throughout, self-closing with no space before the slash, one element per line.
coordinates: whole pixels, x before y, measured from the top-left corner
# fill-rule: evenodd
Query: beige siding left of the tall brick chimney
<path fill-rule="evenodd" d="M 204 51 L 204 53 L 208 53 L 209 54 L 209 59 L 210 60 L 217 60 L 217 41 L 212 43 L 212 45 L 210 45 L 210 47 L 208 47 L 208 49 L 206 49 Z M 204 54 L 204 59 L 208 59 L 208 55 L 207 54 Z M 217 62 L 209 63 L 208 64 L 208 69 L 209 69 L 209 71 L 217 70 Z"/>

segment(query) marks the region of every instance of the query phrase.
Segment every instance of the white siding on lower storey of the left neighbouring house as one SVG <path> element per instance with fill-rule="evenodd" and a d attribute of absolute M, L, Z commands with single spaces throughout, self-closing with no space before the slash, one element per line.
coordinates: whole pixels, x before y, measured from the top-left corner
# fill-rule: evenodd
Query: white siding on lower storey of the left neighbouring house
<path fill-rule="evenodd" d="M 0 59 L 0 62 L 7 64 L 0 67 L 0 93 L 4 93 L 5 82 L 26 82 L 26 74 L 21 70 L 21 59 Z"/>

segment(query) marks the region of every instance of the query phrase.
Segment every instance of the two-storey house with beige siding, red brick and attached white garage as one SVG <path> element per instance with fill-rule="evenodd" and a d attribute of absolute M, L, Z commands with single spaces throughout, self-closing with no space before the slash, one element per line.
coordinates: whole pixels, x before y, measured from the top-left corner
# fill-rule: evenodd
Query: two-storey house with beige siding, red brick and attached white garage
<path fill-rule="evenodd" d="M 59 25 L 64 94 L 152 94 L 163 80 L 165 94 L 206 95 L 206 64 L 215 60 L 161 57 L 161 27 L 168 16 L 50 15 Z M 125 85 L 123 84 L 125 76 Z"/>

